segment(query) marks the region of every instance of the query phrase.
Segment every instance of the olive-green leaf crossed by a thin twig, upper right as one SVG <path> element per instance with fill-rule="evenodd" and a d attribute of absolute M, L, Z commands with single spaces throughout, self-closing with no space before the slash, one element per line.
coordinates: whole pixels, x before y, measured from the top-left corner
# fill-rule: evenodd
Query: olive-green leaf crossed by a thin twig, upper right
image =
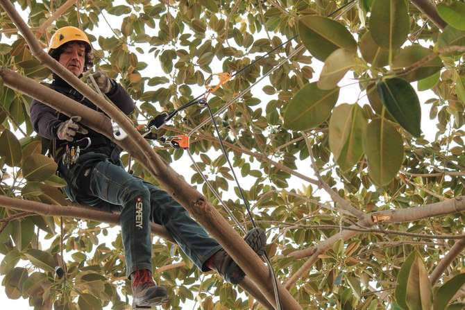
<path fill-rule="evenodd" d="M 401 49 L 396 55 L 391 68 L 394 70 L 405 69 L 412 66 L 415 62 L 418 62 L 418 60 L 432 55 L 432 53 L 432 50 L 418 44 L 407 46 L 405 49 Z M 441 70 L 442 67 L 443 63 L 441 58 L 436 56 L 429 62 L 422 64 L 421 67 L 410 71 L 409 74 L 403 74 L 399 77 L 408 80 L 409 82 L 421 80 L 422 78 L 428 78 L 428 76 L 432 76 L 432 74 L 437 73 L 437 71 Z"/>

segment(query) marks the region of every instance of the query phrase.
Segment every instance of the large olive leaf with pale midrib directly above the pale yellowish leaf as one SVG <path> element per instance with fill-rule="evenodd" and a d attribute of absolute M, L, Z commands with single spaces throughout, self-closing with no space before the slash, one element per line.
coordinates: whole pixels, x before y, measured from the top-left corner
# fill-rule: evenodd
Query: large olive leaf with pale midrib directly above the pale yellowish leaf
<path fill-rule="evenodd" d="M 337 49 L 357 49 L 357 42 L 346 27 L 327 17 L 302 17 L 298 23 L 298 33 L 307 50 L 321 61 L 325 61 Z"/>

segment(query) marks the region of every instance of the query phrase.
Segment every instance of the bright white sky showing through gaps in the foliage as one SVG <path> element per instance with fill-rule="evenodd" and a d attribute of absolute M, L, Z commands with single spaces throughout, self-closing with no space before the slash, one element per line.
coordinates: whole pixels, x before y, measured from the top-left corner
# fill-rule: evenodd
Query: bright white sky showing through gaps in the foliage
<path fill-rule="evenodd" d="M 153 2 L 155 2 L 155 1 L 153 1 Z M 122 0 L 114 1 L 114 3 L 115 3 L 115 6 L 118 5 L 118 4 L 127 4 L 126 1 L 122 1 Z M 19 11 L 21 11 L 21 9 L 19 7 L 17 7 L 17 8 L 18 8 Z M 115 15 L 110 15 L 106 11 L 103 11 L 103 14 L 105 14 L 105 17 L 108 19 L 108 21 L 110 21 L 110 24 L 114 28 L 117 28 L 117 29 L 120 28 L 121 21 L 123 19 L 122 17 L 117 17 Z M 26 10 L 26 12 L 24 12 L 24 15 L 23 15 L 25 17 L 25 19 L 27 19 L 27 15 L 28 15 L 28 12 Z M 146 27 L 146 32 L 147 33 L 151 33 L 151 31 L 153 31 L 153 30 Z M 99 27 L 94 28 L 94 30 L 92 31 L 92 34 L 95 35 L 97 38 L 99 37 L 99 35 L 102 35 L 103 37 L 111 37 L 111 36 L 113 36 L 112 31 L 110 30 L 110 28 L 108 27 L 108 25 L 105 23 L 105 21 L 103 19 L 100 20 Z M 262 37 L 266 37 L 266 35 L 265 35 L 265 33 L 263 31 L 260 34 L 255 35 L 256 39 L 262 38 Z M 285 38 L 283 38 L 282 40 L 285 41 Z M 8 42 L 8 40 L 6 40 L 5 37 L 3 37 L 0 42 L 2 42 L 2 43 L 11 43 L 11 41 Z M 94 46 L 98 45 L 97 42 L 93 42 L 93 44 L 94 44 Z M 230 44 L 235 46 L 235 42 L 234 42 L 233 39 L 230 39 Z M 148 46 L 148 44 L 144 44 L 144 45 Z M 148 51 L 149 49 L 146 49 L 146 50 Z M 144 71 L 145 76 L 151 76 L 151 73 L 153 74 L 153 72 L 155 72 L 155 74 L 153 74 L 154 76 L 164 76 L 164 73 L 162 72 L 162 70 L 160 69 L 160 65 L 158 64 L 158 60 L 154 61 L 153 53 L 145 54 L 145 55 L 138 54 L 138 58 L 139 58 L 140 61 L 144 61 L 144 62 L 149 64 L 149 67 L 147 67 L 147 69 L 145 69 L 145 71 Z M 312 81 L 314 81 L 314 80 L 318 79 L 321 68 L 323 67 L 323 63 L 319 62 L 318 60 L 313 58 L 311 66 L 315 71 L 314 72 L 314 78 L 312 79 Z M 214 59 L 214 62 L 212 62 L 211 67 L 212 67 L 213 72 L 215 72 L 215 73 L 221 72 L 221 62 L 219 62 L 217 60 L 217 58 Z M 144 75 L 144 74 L 142 74 L 142 75 Z M 346 75 L 344 80 L 342 80 L 339 83 L 339 86 L 350 85 L 350 84 L 353 84 L 354 82 L 355 82 L 355 80 L 352 79 L 352 72 L 350 71 Z M 269 85 L 269 79 L 268 78 L 264 79 L 261 83 L 258 83 L 257 85 L 255 85 L 255 87 L 253 87 L 253 89 L 252 89 L 252 92 L 253 92 L 254 96 L 257 97 L 257 98 L 262 99 L 262 102 L 263 102 L 264 106 L 266 106 L 266 104 L 270 100 L 277 98 L 277 94 L 273 95 L 273 96 L 268 96 L 268 95 L 266 95 L 266 94 L 264 94 L 262 92 L 262 87 L 264 87 L 265 85 Z M 414 83 L 414 88 L 416 89 L 416 83 Z M 150 87 L 146 87 L 146 90 L 149 90 L 149 89 L 150 89 Z M 155 89 L 156 89 L 156 87 L 155 87 Z M 198 94 L 201 94 L 203 92 L 203 90 L 204 89 L 202 89 L 201 87 L 192 87 L 192 95 L 197 96 Z M 359 96 L 359 94 L 360 94 L 360 88 L 357 85 L 357 83 L 355 83 L 353 85 L 350 85 L 350 86 L 347 86 L 347 87 L 342 87 L 341 91 L 340 91 L 340 94 L 339 94 L 339 101 L 338 101 L 337 104 L 339 105 L 341 103 L 355 103 L 357 101 L 357 97 Z M 417 94 L 418 94 L 418 96 L 420 98 L 421 107 L 422 107 L 421 129 L 423 131 L 423 134 L 425 135 L 425 139 L 427 139 L 428 141 L 433 141 L 434 140 L 434 135 L 435 135 L 435 132 L 436 132 L 436 126 L 429 119 L 430 105 L 425 105 L 423 103 L 426 100 L 428 100 L 429 98 L 433 98 L 433 97 L 436 97 L 436 96 L 430 91 L 417 92 Z M 358 101 L 358 103 L 361 106 L 363 106 L 364 104 L 368 104 L 368 99 L 366 98 L 366 96 L 363 96 L 363 98 L 360 101 Z M 21 137 L 20 134 L 18 134 L 18 137 Z M 219 155 L 219 153 L 214 153 L 214 155 L 212 155 L 212 154 L 209 154 L 209 155 L 210 155 L 211 158 L 215 158 L 215 157 L 217 157 Z M 230 156 L 230 159 L 231 158 L 232 158 L 232 156 Z M 183 171 L 182 174 L 185 177 L 185 180 L 187 180 L 187 182 L 190 181 L 190 178 L 191 178 L 192 174 L 195 173 L 195 171 L 191 168 L 191 164 L 192 164 L 192 162 L 189 160 L 189 157 L 187 156 L 187 154 L 184 154 L 182 160 L 176 161 L 176 166 L 174 167 L 174 168 L 176 168 L 177 171 Z M 314 175 L 312 169 L 310 169 L 310 160 L 305 160 L 304 162 L 297 161 L 296 164 L 298 166 L 299 173 L 302 173 L 304 175 L 309 175 L 309 176 Z M 251 180 L 242 180 L 238 169 L 236 169 L 235 172 L 236 172 L 236 174 L 237 174 L 237 176 L 239 178 L 239 182 L 241 182 L 241 184 L 242 184 L 242 186 L 244 186 L 244 188 L 248 189 L 247 186 L 250 185 L 250 184 L 253 184 L 254 180 L 252 180 L 252 179 Z M 289 182 L 290 187 L 294 188 L 294 189 L 301 189 L 302 187 L 308 185 L 305 182 L 303 182 L 301 179 L 298 179 L 298 178 L 296 178 L 294 176 L 291 176 L 291 178 L 289 179 L 288 182 Z M 232 189 L 232 188 L 233 187 L 230 186 L 230 189 Z M 321 196 L 327 197 L 323 193 L 321 193 Z M 237 199 L 237 196 L 235 196 L 235 193 L 233 191 L 230 191 L 230 193 L 223 193 L 223 197 Z M 118 229 L 118 228 L 116 228 L 116 229 Z M 115 236 L 115 234 L 110 234 L 109 235 L 108 240 L 107 240 L 107 246 L 110 246 L 110 242 L 112 241 L 112 238 L 114 238 L 114 236 Z M 47 248 L 47 245 L 43 244 L 43 248 Z M 1 261 L 1 259 L 3 259 L 3 255 L 0 255 L 0 261 Z M 0 277 L 0 280 L 1 279 L 3 279 L 3 277 Z M 5 295 L 4 286 L 0 286 L 0 302 L 1 302 L 2 308 L 4 308 L 4 309 L 14 309 L 14 308 L 17 308 L 17 309 L 32 309 L 32 307 L 30 307 L 28 305 L 28 300 L 23 300 L 22 298 L 20 298 L 19 300 L 10 300 L 10 299 L 8 299 L 8 297 Z M 188 302 L 187 304 L 185 304 L 185 309 L 193 309 L 192 307 L 194 307 L 194 302 Z M 110 308 L 111 307 L 107 307 L 105 309 L 110 309 Z M 198 303 L 197 303 L 195 309 L 200 309 Z"/>

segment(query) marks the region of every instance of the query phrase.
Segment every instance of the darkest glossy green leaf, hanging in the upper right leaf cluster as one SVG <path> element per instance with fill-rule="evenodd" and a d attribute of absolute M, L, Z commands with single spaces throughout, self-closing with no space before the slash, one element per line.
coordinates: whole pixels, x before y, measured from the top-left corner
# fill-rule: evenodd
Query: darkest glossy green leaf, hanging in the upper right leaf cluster
<path fill-rule="evenodd" d="M 390 78 L 377 85 L 378 95 L 391 115 L 415 137 L 421 135 L 421 107 L 412 85 L 402 78 Z"/>

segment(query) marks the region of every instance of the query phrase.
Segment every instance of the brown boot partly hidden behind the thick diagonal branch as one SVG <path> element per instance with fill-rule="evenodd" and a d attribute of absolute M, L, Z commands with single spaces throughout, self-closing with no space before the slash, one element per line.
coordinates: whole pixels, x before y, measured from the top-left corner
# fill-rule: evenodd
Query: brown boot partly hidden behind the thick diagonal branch
<path fill-rule="evenodd" d="M 267 236 L 261 228 L 255 227 L 249 231 L 244 237 L 244 241 L 257 255 L 264 254 L 264 247 L 267 245 Z M 223 249 L 208 259 L 207 266 L 212 270 L 216 270 L 227 282 L 232 284 L 239 284 L 245 277 L 244 271 L 237 266 L 235 261 Z"/>

